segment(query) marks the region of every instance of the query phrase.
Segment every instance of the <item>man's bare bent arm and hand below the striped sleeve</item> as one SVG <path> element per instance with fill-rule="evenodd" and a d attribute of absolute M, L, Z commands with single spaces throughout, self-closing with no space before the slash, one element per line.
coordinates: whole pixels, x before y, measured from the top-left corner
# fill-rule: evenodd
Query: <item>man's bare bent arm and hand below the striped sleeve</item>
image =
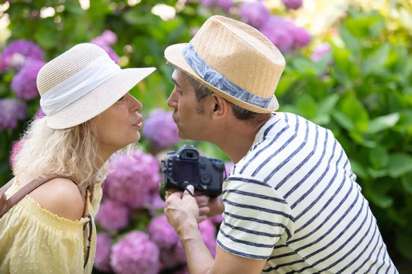
<path fill-rule="evenodd" d="M 193 187 L 189 186 L 193 192 Z M 233 255 L 216 247 L 216 260 L 211 256 L 198 229 L 198 206 L 188 192 L 175 192 L 166 200 L 165 214 L 173 225 L 187 258 L 191 274 L 258 274 L 266 260 L 253 260 Z"/>

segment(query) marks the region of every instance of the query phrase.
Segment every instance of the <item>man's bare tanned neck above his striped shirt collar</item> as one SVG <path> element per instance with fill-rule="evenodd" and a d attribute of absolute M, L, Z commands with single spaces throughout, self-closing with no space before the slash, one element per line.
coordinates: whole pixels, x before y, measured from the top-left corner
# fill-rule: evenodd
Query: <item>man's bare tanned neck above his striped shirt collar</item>
<path fill-rule="evenodd" d="M 217 145 L 223 152 L 225 152 L 231 161 L 237 164 L 244 155 L 247 154 L 255 141 L 256 134 L 262 126 L 271 119 L 272 114 L 261 115 L 257 121 L 232 121 L 228 123 L 227 127 L 222 128 L 216 138 L 211 142 Z"/>

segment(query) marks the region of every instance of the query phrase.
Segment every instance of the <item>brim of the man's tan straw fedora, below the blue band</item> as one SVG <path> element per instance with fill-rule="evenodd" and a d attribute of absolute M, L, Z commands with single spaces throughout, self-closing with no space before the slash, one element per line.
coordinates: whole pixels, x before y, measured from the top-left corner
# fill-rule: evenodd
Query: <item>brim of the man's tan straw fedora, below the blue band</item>
<path fill-rule="evenodd" d="M 235 105 L 240 106 L 241 108 L 244 108 L 246 110 L 250 110 L 251 112 L 256 112 L 256 113 L 271 113 L 276 111 L 279 108 L 279 103 L 277 102 L 277 99 L 275 95 L 273 95 L 271 99 L 271 103 L 269 105 L 273 106 L 273 108 L 260 108 L 256 105 L 252 105 L 251 103 L 244 102 L 240 99 L 237 99 L 236 97 L 233 97 L 226 92 L 212 86 L 211 84 L 205 82 L 201 75 L 198 75 L 194 69 L 192 69 L 192 66 L 190 66 L 189 63 L 185 60 L 183 56 L 183 49 L 189 45 L 188 43 L 183 43 L 183 44 L 176 44 L 176 45 L 171 45 L 165 49 L 165 58 L 173 64 L 174 66 L 179 67 L 182 71 L 193 77 L 197 82 L 200 82 L 207 88 L 209 88 L 211 91 L 216 92 L 220 97 L 223 97 L 227 99 L 227 101 L 234 103 Z"/>

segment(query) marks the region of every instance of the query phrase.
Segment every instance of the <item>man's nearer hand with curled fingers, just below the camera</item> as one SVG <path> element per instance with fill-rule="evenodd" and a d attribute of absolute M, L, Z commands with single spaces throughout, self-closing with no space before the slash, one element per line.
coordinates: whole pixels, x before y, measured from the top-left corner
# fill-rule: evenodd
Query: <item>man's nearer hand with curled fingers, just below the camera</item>
<path fill-rule="evenodd" d="M 194 193 L 193 186 L 187 186 L 187 189 Z M 208 210 L 207 208 L 207 211 Z M 181 232 L 183 225 L 192 225 L 200 221 L 196 199 L 192 197 L 187 190 L 185 190 L 185 192 L 168 193 L 166 195 L 166 208 L 164 212 L 168 218 L 168 222 L 174 227 L 174 230 L 176 230 L 178 234 Z M 202 218 L 206 219 L 206 216 Z"/>

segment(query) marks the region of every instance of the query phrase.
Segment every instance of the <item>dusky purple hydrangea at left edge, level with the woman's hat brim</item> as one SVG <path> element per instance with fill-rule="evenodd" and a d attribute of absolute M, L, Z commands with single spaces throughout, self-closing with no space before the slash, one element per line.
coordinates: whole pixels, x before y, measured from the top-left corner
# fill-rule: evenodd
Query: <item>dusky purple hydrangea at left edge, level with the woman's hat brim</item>
<path fill-rule="evenodd" d="M 20 99 L 0 99 L 0 132 L 7 128 L 15 129 L 19 120 L 27 119 L 27 115 L 27 105 Z"/>

